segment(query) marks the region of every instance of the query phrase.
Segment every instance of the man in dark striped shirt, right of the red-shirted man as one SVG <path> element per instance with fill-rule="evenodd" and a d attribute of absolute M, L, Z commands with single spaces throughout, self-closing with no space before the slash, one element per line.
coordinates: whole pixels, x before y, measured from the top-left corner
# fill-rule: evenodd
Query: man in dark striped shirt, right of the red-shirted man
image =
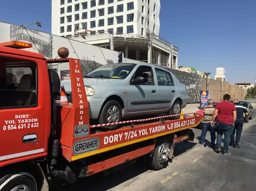
<path fill-rule="evenodd" d="M 241 138 L 241 133 L 242 133 L 242 125 L 243 125 L 243 113 L 245 115 L 248 115 L 248 111 L 245 106 L 243 106 L 241 103 L 239 103 L 237 98 L 233 98 L 233 103 L 236 108 L 236 120 L 234 123 L 234 130 L 230 136 L 230 146 L 233 146 L 234 148 L 239 148 L 240 146 L 238 145 L 240 138 Z M 234 140 L 234 134 L 235 135 L 235 140 Z"/>

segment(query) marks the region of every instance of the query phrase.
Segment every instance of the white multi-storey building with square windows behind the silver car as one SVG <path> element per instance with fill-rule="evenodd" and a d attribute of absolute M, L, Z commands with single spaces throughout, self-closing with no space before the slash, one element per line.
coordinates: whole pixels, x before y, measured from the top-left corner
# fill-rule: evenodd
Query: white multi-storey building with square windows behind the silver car
<path fill-rule="evenodd" d="M 159 37 L 160 0 L 52 0 L 52 34 L 170 68 L 178 48 Z"/>

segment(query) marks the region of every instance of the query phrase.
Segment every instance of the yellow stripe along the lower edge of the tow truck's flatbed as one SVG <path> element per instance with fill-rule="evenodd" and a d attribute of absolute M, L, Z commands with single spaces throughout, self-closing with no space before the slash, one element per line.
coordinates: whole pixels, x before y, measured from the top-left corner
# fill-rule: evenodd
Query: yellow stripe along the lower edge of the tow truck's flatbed
<path fill-rule="evenodd" d="M 120 147 L 129 145 L 129 144 L 134 144 L 134 143 L 141 142 L 141 141 L 144 141 L 144 140 L 156 138 L 156 137 L 163 136 L 163 135 L 166 135 L 166 134 L 171 134 L 171 133 L 174 133 L 174 132 L 177 132 L 177 131 L 180 131 L 180 130 L 184 130 L 184 129 L 187 129 L 187 128 L 192 128 L 192 127 L 197 126 L 200 122 L 201 122 L 201 120 L 197 124 L 193 124 L 191 126 L 186 126 L 186 127 L 183 127 L 183 128 L 178 128 L 176 130 L 167 131 L 167 132 L 163 132 L 163 133 L 159 133 L 159 134 L 154 134 L 154 135 L 151 135 L 151 136 L 147 136 L 147 137 L 144 137 L 144 138 L 139 138 L 139 139 L 132 140 L 132 141 L 129 141 L 129 142 L 124 142 L 124 143 L 116 144 L 116 145 L 109 146 L 109 147 L 106 147 L 106 148 L 101 148 L 99 150 L 94 150 L 94 151 L 91 151 L 91 152 L 75 155 L 75 156 L 72 156 L 71 161 L 81 159 L 81 158 L 85 158 L 85 157 L 95 155 L 95 154 L 98 154 L 98 153 L 101 153 L 101 152 L 106 152 L 106 151 L 109 151 L 109 150 L 113 150 L 115 148 L 120 148 Z"/>

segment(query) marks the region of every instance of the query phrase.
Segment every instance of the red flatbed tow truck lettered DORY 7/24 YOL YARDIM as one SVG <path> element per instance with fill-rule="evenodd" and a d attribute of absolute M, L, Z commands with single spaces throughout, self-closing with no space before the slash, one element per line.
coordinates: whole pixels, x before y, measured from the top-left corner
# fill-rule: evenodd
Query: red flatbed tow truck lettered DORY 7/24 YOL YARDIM
<path fill-rule="evenodd" d="M 177 142 L 194 139 L 189 128 L 200 123 L 202 111 L 174 120 L 169 115 L 121 121 L 113 130 L 104 128 L 112 123 L 90 125 L 79 59 L 68 58 L 67 49 L 58 59 L 46 59 L 22 49 L 28 47 L 0 43 L 1 191 L 46 191 L 55 180 L 73 183 L 143 155 L 159 170 Z M 72 103 L 56 101 L 60 78 L 48 66 L 63 62 L 70 67 Z"/>

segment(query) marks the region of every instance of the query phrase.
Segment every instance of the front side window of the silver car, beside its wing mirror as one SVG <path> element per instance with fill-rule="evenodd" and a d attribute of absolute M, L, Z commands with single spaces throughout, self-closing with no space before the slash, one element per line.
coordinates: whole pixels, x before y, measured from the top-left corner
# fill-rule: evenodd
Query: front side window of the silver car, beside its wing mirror
<path fill-rule="evenodd" d="M 152 67 L 150 66 L 140 66 L 137 68 L 136 72 L 133 75 L 133 79 L 135 79 L 138 76 L 143 76 L 146 79 L 145 83 L 140 83 L 140 85 L 154 85 L 154 74 Z"/>

